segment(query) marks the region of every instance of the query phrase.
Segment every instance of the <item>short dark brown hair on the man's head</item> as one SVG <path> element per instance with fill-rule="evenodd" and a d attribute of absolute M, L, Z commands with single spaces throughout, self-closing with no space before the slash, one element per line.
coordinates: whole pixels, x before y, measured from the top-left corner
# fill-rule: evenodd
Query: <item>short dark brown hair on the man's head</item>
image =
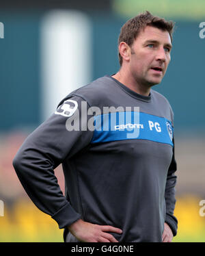
<path fill-rule="evenodd" d="M 150 12 L 143 12 L 134 18 L 129 19 L 124 23 L 120 30 L 120 36 L 118 38 L 118 46 L 120 42 L 126 42 L 129 47 L 132 46 L 134 40 L 139 35 L 139 32 L 146 28 L 146 26 L 157 27 L 163 31 L 168 31 L 172 42 L 172 33 L 174 31 L 174 22 L 166 21 L 165 18 L 153 16 Z M 122 66 L 122 56 L 119 52 L 119 62 Z"/>

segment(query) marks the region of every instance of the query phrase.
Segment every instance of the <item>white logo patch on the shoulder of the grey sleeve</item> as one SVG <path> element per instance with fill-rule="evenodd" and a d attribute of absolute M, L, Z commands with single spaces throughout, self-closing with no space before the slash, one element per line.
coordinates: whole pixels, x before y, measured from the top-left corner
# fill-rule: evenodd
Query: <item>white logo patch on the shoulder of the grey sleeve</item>
<path fill-rule="evenodd" d="M 64 101 L 64 103 L 57 108 L 57 110 L 55 111 L 55 114 L 70 117 L 74 114 L 77 108 L 78 108 L 77 101 L 72 101 L 71 99 L 68 99 L 67 101 Z"/>

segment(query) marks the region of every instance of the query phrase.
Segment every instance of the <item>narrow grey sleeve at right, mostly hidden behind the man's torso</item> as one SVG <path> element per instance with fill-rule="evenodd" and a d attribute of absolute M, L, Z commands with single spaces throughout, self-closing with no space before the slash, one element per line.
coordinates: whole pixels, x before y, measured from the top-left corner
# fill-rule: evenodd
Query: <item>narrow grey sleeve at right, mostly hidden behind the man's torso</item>
<path fill-rule="evenodd" d="M 174 143 L 174 138 L 173 138 Z M 173 155 L 172 162 L 169 166 L 167 173 L 167 182 L 165 186 L 165 203 L 166 203 L 166 217 L 165 222 L 172 229 L 172 233 L 175 236 L 177 233 L 178 220 L 174 216 L 174 208 L 175 208 L 175 186 L 176 186 L 176 160 L 174 155 L 174 147 L 173 147 Z"/>

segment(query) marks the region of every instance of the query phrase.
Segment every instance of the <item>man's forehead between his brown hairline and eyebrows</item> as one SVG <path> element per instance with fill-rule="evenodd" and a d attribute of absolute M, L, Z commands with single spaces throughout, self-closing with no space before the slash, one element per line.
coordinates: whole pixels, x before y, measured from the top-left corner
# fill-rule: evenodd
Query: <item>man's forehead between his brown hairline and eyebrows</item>
<path fill-rule="evenodd" d="M 171 44 L 171 38 L 168 31 L 163 31 L 157 27 L 146 26 L 141 30 L 135 39 L 136 42 L 146 42 L 147 40 L 156 40 L 164 44 Z"/>

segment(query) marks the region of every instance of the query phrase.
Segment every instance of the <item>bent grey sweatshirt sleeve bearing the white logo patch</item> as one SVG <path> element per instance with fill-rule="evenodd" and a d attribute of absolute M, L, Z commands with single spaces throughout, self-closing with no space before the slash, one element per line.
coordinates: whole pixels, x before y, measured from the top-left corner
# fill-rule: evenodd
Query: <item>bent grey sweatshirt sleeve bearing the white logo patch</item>
<path fill-rule="evenodd" d="M 59 229 L 81 218 L 61 192 L 54 169 L 92 140 L 92 131 L 85 129 L 85 105 L 89 106 L 81 97 L 66 97 L 55 114 L 27 137 L 13 160 L 18 179 L 31 201 L 49 214 Z"/>

